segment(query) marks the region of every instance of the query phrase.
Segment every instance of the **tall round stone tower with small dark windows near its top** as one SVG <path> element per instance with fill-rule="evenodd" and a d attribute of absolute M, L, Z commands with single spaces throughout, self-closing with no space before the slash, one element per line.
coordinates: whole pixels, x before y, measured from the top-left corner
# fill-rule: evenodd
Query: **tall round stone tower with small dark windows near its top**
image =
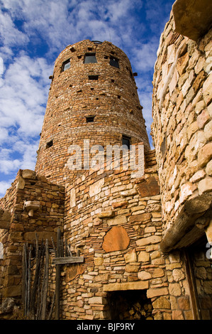
<path fill-rule="evenodd" d="M 148 151 L 142 109 L 130 61 L 120 48 L 107 41 L 68 45 L 55 61 L 36 173 L 64 184 L 71 177 L 69 146 L 83 149 L 84 139 L 104 148 L 143 142 Z"/>

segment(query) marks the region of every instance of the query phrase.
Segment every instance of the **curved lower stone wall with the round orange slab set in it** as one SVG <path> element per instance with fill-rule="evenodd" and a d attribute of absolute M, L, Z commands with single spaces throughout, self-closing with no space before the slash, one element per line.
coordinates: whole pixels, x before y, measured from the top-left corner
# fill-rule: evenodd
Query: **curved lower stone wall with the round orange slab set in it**
<path fill-rule="evenodd" d="M 109 319 L 107 293 L 121 290 L 146 291 L 152 318 L 192 318 L 184 259 L 160 251 L 155 151 L 145 158 L 142 178 L 93 171 L 67 185 L 64 237 L 84 263 L 63 267 L 62 318 Z"/>

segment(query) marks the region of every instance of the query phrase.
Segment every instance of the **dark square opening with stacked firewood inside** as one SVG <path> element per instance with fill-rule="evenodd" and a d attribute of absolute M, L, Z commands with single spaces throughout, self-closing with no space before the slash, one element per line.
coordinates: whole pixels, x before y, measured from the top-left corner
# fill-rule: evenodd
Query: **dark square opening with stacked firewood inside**
<path fill-rule="evenodd" d="M 145 290 L 108 292 L 108 306 L 111 320 L 153 320 Z"/>

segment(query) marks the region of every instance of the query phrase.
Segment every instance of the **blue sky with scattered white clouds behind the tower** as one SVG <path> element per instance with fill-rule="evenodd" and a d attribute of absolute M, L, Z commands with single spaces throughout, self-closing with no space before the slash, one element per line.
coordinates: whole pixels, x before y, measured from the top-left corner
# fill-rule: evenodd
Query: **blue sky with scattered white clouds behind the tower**
<path fill-rule="evenodd" d="M 57 55 L 84 39 L 111 41 L 138 72 L 147 131 L 160 35 L 174 0 L 0 0 L 0 197 L 34 169 Z"/>

